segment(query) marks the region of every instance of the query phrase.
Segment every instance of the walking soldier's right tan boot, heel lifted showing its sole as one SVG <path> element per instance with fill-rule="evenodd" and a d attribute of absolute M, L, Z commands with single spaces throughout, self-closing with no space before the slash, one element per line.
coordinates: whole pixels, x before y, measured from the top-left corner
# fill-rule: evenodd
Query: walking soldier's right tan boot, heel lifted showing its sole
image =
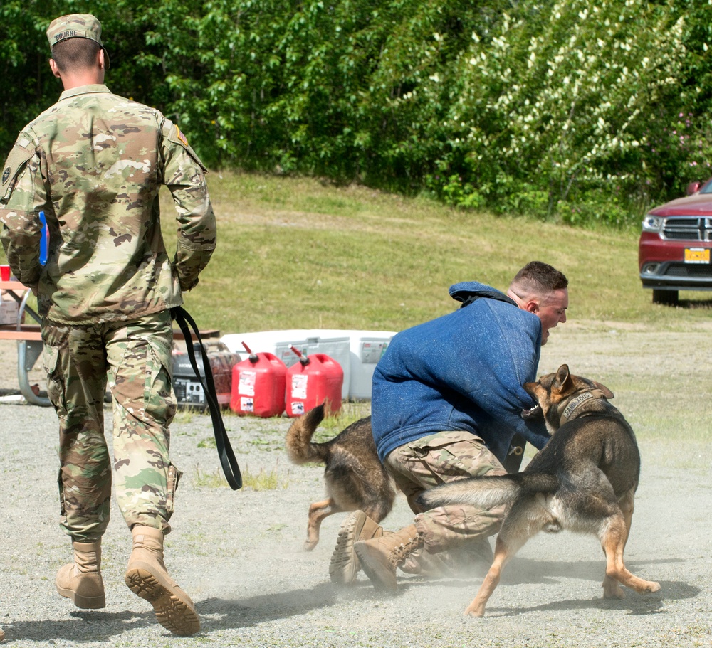
<path fill-rule="evenodd" d="M 133 550 L 126 569 L 126 585 L 153 606 L 158 622 L 179 637 L 200 630 L 190 597 L 168 575 L 163 562 L 163 531 L 152 526 L 132 529 Z"/>

